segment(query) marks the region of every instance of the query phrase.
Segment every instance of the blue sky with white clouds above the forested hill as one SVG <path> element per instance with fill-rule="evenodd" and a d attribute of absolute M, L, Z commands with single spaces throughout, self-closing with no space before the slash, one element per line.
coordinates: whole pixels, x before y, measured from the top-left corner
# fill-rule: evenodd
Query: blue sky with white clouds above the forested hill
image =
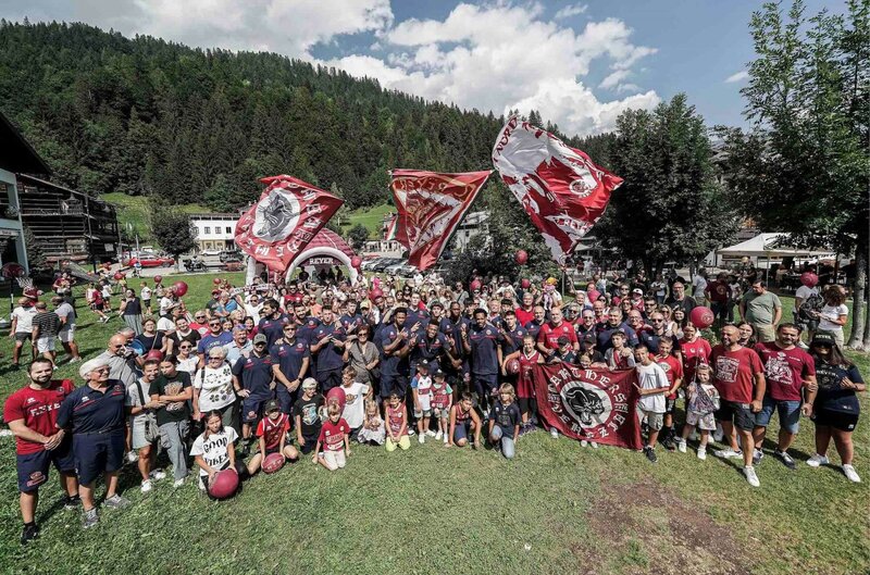
<path fill-rule="evenodd" d="M 809 14 L 844 0 L 807 0 Z M 80 21 L 199 47 L 269 50 L 568 133 L 684 91 L 708 124 L 743 125 L 749 0 L 0 0 L 0 16 Z M 787 4 L 786 4 L 787 5 Z M 735 75 L 737 75 L 735 77 Z M 729 78 L 732 80 L 729 82 Z"/>

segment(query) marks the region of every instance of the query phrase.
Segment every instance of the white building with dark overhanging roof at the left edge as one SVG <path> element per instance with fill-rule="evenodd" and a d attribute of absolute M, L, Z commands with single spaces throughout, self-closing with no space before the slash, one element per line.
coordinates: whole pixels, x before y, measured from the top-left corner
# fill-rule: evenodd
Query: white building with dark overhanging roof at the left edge
<path fill-rule="evenodd" d="M 0 148 L 0 265 L 16 262 L 29 271 L 15 174 L 50 174 L 51 170 L 3 114 Z"/>

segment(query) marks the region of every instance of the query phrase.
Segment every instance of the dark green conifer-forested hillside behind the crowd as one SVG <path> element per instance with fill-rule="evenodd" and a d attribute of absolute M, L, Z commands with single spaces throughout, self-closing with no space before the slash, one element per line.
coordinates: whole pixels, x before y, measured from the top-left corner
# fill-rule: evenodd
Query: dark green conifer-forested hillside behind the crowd
<path fill-rule="evenodd" d="M 214 210 L 276 173 L 377 204 L 390 167 L 489 167 L 502 124 L 277 54 L 5 21 L 0 109 L 62 184 Z"/>

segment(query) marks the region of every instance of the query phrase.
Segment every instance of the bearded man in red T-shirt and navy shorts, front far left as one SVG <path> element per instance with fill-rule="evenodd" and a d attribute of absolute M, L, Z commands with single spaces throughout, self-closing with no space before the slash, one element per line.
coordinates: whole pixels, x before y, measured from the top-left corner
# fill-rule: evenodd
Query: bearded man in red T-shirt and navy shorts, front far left
<path fill-rule="evenodd" d="M 27 372 L 27 385 L 13 392 L 3 407 L 3 421 L 15 436 L 23 545 L 39 535 L 36 524 L 39 486 L 48 482 L 51 464 L 60 473 L 61 487 L 66 492 L 64 507 L 74 509 L 80 503 L 72 438 L 55 426 L 58 409 L 75 386 L 71 379 L 52 379 L 53 373 L 51 361 L 34 360 Z"/>

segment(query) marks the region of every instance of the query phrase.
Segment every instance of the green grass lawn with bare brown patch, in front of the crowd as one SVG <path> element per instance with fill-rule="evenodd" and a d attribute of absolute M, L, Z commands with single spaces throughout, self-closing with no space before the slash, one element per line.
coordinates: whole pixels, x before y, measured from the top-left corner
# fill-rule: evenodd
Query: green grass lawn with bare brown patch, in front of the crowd
<path fill-rule="evenodd" d="M 188 299 L 202 303 L 211 278 L 187 278 Z M 92 357 L 120 321 L 103 326 L 82 314 L 83 352 Z M 9 355 L 8 338 L 0 350 Z M 867 357 L 856 359 L 870 375 Z M 24 383 L 2 361 L 0 399 Z M 52 479 L 39 507 L 41 538 L 27 548 L 17 541 L 14 446 L 3 438 L 0 572 L 867 573 L 867 415 L 856 432 L 860 485 L 838 468 L 803 464 L 812 425 L 803 426 L 798 470 L 766 458 L 759 489 L 731 461 L 659 449 L 651 465 L 641 453 L 584 449 L 543 432 L 524 436 L 511 462 L 435 442 L 389 454 L 355 447 L 340 472 L 304 461 L 254 477 L 225 502 L 209 501 L 192 484 L 173 490 L 166 480 L 141 495 L 127 467 L 122 486 L 134 504 L 105 510 L 87 533 L 76 513 L 55 503 Z"/>

